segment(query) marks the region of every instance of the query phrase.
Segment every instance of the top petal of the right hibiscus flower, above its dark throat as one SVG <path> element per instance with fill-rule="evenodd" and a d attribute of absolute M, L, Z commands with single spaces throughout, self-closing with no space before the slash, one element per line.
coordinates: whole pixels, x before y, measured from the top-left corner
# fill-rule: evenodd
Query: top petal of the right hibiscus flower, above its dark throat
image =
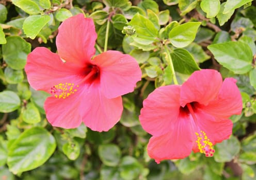
<path fill-rule="evenodd" d="M 203 69 L 195 71 L 181 87 L 181 106 L 189 102 L 207 105 L 218 97 L 222 85 L 221 75 L 216 70 Z"/>

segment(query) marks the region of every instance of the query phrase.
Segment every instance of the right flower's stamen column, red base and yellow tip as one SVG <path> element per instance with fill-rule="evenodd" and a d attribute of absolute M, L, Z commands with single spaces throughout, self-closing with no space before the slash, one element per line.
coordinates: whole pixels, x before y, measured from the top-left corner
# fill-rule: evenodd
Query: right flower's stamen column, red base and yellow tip
<path fill-rule="evenodd" d="M 191 104 L 187 103 L 186 106 L 194 121 L 197 122 L 197 118 Z M 206 133 L 200 130 L 200 132 L 195 132 L 195 134 L 197 136 L 196 142 L 200 153 L 204 153 L 206 157 L 212 157 L 215 150 L 213 149 L 213 143 L 206 136 Z"/>

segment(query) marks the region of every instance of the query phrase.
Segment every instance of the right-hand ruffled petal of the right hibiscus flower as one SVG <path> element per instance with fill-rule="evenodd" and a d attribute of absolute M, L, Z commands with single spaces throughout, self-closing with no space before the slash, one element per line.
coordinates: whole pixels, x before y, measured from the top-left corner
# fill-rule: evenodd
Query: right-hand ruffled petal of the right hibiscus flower
<path fill-rule="evenodd" d="M 228 119 L 234 114 L 241 114 L 243 109 L 242 97 L 236 86 L 236 80 L 226 78 L 220 88 L 218 99 L 208 105 L 199 107 L 206 113 L 218 119 Z"/>

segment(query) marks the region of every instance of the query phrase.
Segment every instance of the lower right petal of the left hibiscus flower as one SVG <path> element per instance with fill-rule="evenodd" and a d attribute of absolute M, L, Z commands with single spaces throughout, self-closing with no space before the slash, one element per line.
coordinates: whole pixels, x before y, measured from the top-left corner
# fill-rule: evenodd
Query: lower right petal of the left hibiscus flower
<path fill-rule="evenodd" d="M 91 85 L 83 94 L 80 112 L 83 121 L 93 131 L 108 131 L 120 120 L 123 104 L 122 98 L 107 99 L 97 85 Z"/>

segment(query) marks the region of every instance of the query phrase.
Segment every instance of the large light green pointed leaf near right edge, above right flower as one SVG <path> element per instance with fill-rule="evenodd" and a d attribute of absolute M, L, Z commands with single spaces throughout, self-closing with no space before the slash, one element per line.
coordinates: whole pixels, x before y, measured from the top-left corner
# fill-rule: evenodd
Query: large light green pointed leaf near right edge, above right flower
<path fill-rule="evenodd" d="M 250 46 L 242 42 L 225 42 L 207 47 L 214 58 L 236 74 L 245 74 L 251 69 L 252 52 Z"/>

